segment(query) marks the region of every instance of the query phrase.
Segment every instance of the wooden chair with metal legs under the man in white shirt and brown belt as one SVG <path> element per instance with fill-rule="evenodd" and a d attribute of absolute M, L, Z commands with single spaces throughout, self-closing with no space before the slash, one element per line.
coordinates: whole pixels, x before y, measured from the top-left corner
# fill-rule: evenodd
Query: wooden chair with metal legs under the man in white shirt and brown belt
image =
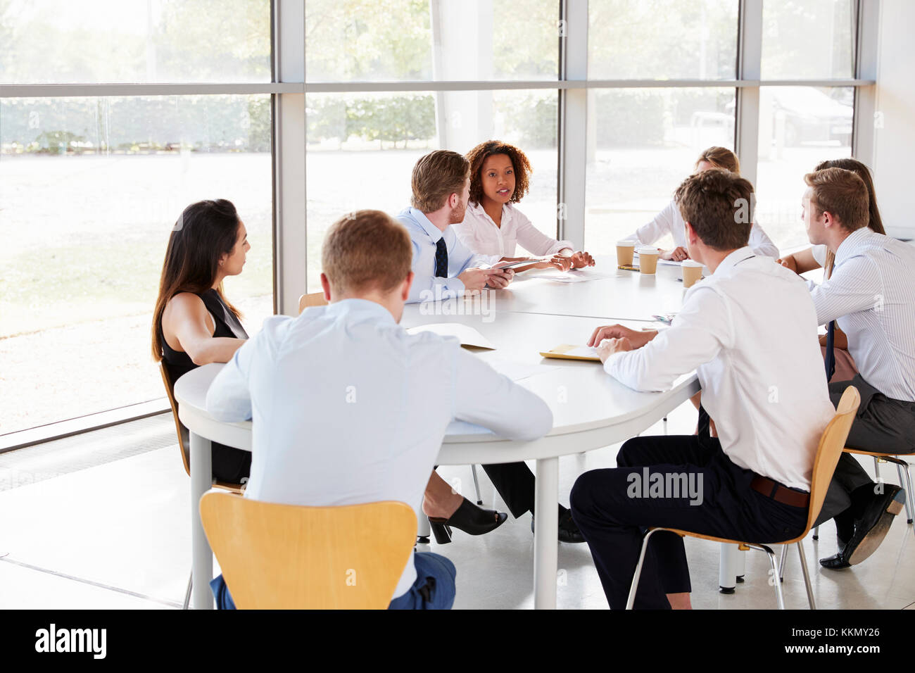
<path fill-rule="evenodd" d="M 810 573 L 807 570 L 807 559 L 803 553 L 803 538 L 807 537 L 807 533 L 813 527 L 813 522 L 816 521 L 816 517 L 820 514 L 820 509 L 823 507 L 823 500 L 826 497 L 826 490 L 829 488 L 830 481 L 832 481 L 833 472 L 835 472 L 835 465 L 838 463 L 839 456 L 842 454 L 842 448 L 845 446 L 845 440 L 848 438 L 848 431 L 852 427 L 852 423 L 855 420 L 855 414 L 857 413 L 857 407 L 860 403 L 861 396 L 858 395 L 857 388 L 854 385 L 850 385 L 845 388 L 845 393 L 842 395 L 842 399 L 839 400 L 839 406 L 835 410 L 833 419 L 829 421 L 829 425 L 827 425 L 826 429 L 823 430 L 823 435 L 820 438 L 820 444 L 816 450 L 816 457 L 813 460 L 813 476 L 811 478 L 810 506 L 807 512 L 807 526 L 804 527 L 803 532 L 798 537 L 794 537 L 790 540 L 785 540 L 784 542 L 780 543 L 785 545 L 786 548 L 791 544 L 796 545 L 798 548 L 798 556 L 801 558 L 803 581 L 807 589 L 807 601 L 810 602 L 811 610 L 816 610 L 816 602 L 813 600 L 813 587 L 811 587 L 810 584 Z M 635 602 L 636 589 L 639 586 L 641 567 L 645 560 L 645 550 L 648 548 L 648 541 L 651 539 L 651 536 L 659 530 L 669 530 L 672 533 L 676 533 L 680 537 L 699 537 L 700 539 L 712 540 L 714 542 L 736 544 L 740 549 L 744 551 L 748 549 L 758 549 L 759 551 L 764 551 L 769 556 L 769 562 L 772 566 L 773 578 L 779 575 L 780 568 L 778 560 L 775 558 L 775 552 L 773 552 L 768 545 L 727 539 L 724 537 L 702 535 L 699 533 L 692 533 L 687 530 L 679 530 L 676 528 L 651 528 L 651 530 L 645 534 L 645 537 L 642 538 L 639 563 L 636 565 L 635 576 L 632 578 L 632 584 L 630 585 L 629 600 L 626 602 L 627 610 L 631 610 L 632 605 Z M 781 595 L 781 582 L 774 581 L 773 584 L 775 586 L 775 596 L 779 604 L 779 610 L 784 610 L 785 602 Z"/>

